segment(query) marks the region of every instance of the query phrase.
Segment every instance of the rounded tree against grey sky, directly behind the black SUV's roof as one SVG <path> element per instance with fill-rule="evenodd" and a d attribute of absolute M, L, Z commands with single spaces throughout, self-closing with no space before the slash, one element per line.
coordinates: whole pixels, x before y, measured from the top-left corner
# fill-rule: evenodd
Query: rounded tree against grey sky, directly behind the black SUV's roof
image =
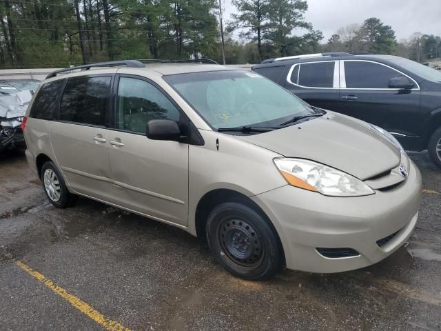
<path fill-rule="evenodd" d="M 366 52 L 373 54 L 391 54 L 396 48 L 395 31 L 385 26 L 380 19 L 372 17 L 362 24 L 354 36 Z"/>

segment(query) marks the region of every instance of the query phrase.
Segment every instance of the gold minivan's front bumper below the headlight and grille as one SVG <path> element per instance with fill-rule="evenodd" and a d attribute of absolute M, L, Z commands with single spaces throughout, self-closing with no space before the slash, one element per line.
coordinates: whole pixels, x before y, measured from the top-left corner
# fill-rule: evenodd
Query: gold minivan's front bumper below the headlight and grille
<path fill-rule="evenodd" d="M 418 219 L 421 175 L 413 162 L 398 187 L 366 197 L 325 197 L 286 185 L 252 199 L 279 234 L 287 268 L 342 272 L 377 263 L 409 239 Z M 385 245 L 376 241 L 395 236 Z M 327 258 L 316 248 L 352 248 L 355 257 Z"/>

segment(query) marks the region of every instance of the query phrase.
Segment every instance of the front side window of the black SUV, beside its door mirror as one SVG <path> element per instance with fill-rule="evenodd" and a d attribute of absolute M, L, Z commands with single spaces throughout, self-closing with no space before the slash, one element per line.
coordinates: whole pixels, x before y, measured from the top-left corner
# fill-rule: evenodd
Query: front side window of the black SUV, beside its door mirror
<path fill-rule="evenodd" d="M 346 88 L 389 88 L 389 80 L 400 72 L 378 63 L 345 61 Z"/>

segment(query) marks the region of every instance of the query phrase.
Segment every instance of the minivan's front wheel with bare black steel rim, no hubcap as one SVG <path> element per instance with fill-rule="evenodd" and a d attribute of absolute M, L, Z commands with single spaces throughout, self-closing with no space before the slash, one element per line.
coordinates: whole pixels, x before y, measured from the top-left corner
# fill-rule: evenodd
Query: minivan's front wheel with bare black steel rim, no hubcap
<path fill-rule="evenodd" d="M 252 281 L 268 279 L 283 261 L 278 235 L 268 222 L 250 205 L 222 203 L 207 220 L 209 248 L 234 276 Z"/>

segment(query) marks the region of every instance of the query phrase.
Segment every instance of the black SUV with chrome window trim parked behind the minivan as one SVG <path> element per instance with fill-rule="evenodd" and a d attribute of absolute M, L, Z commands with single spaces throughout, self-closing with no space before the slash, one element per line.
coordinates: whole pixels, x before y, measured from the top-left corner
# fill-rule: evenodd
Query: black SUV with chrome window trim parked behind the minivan
<path fill-rule="evenodd" d="M 406 150 L 429 150 L 441 168 L 441 71 L 389 55 L 333 52 L 283 57 L 252 68 L 312 106 L 393 134 Z"/>

